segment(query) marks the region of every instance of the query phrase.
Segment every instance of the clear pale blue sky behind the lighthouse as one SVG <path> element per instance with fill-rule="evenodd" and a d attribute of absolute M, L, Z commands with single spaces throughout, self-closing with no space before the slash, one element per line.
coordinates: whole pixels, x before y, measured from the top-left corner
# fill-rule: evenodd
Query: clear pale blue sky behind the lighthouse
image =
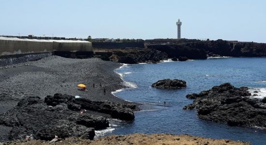
<path fill-rule="evenodd" d="M 0 0 L 0 35 L 266 43 L 266 0 Z"/>

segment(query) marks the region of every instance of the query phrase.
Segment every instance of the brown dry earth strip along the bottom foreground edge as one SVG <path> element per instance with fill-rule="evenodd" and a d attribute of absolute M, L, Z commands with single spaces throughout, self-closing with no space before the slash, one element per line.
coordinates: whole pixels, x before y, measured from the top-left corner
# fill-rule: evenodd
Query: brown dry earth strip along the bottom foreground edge
<path fill-rule="evenodd" d="M 7 145 L 54 145 L 41 140 L 9 142 Z M 129 134 L 111 135 L 90 141 L 80 138 L 59 139 L 56 145 L 251 145 L 251 143 L 226 139 L 211 139 L 191 135 Z"/>

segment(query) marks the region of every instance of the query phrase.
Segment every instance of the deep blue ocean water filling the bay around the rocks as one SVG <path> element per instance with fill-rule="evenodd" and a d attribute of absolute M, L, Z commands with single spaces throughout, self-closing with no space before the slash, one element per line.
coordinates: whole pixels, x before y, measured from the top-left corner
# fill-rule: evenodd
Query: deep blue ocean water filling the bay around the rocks
<path fill-rule="evenodd" d="M 258 98 L 266 96 L 266 58 L 212 58 L 184 62 L 124 65 L 116 70 L 131 88 L 114 92 L 119 98 L 144 104 L 155 104 L 134 112 L 133 121 L 109 120 L 111 127 L 99 131 L 98 136 L 129 133 L 190 134 L 214 139 L 249 141 L 266 145 L 266 130 L 249 127 L 231 127 L 204 121 L 195 110 L 182 110 L 193 100 L 189 93 L 199 93 L 213 86 L 229 82 L 235 87 L 258 90 Z M 187 82 L 187 88 L 161 90 L 150 87 L 160 79 L 177 78 Z M 163 102 L 166 102 L 166 106 Z M 147 105 L 144 105 L 147 106 Z"/>

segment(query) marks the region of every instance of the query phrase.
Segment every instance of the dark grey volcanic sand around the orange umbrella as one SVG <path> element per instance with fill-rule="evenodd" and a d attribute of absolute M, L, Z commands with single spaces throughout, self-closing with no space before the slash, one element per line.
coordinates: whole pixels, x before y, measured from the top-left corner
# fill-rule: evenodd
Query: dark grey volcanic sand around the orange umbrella
<path fill-rule="evenodd" d="M 0 70 L 0 113 L 16 105 L 27 95 L 44 98 L 55 93 L 78 95 L 93 101 L 108 100 L 126 102 L 111 94 L 125 87 L 119 75 L 114 72 L 121 66 L 116 62 L 99 58 L 71 59 L 51 56 L 27 65 Z M 30 64 L 30 65 L 28 65 Z M 95 88 L 92 84 L 95 83 Z M 99 84 L 102 83 L 102 87 Z M 77 84 L 87 85 L 88 91 L 78 90 Z M 106 95 L 103 95 L 103 87 Z"/>

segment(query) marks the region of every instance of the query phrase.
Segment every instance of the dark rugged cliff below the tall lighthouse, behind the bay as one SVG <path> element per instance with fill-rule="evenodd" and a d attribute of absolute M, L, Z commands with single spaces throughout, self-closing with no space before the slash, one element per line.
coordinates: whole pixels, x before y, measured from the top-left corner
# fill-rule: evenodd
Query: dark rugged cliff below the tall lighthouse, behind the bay
<path fill-rule="evenodd" d="M 148 48 L 154 48 L 168 54 L 169 58 L 187 57 L 205 59 L 212 56 L 229 57 L 266 57 L 266 43 L 236 41 L 171 41 L 167 43 L 152 42 Z"/>

